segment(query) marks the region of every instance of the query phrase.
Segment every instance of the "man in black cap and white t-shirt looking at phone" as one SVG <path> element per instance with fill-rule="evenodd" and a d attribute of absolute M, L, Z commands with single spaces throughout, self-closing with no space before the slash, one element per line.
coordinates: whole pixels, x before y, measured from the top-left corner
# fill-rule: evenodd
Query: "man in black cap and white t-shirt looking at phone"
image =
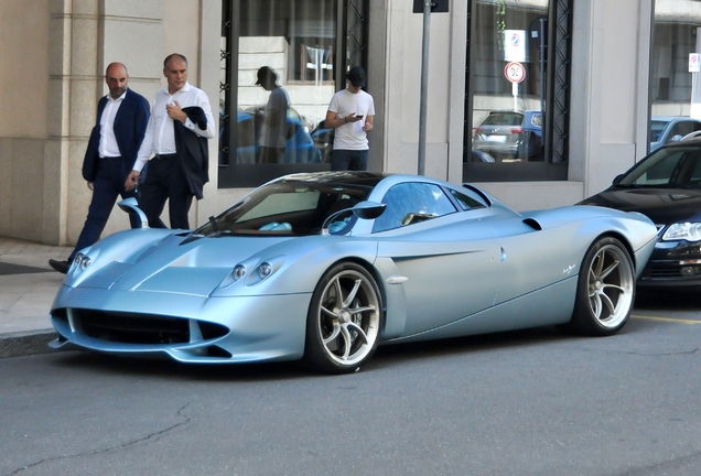
<path fill-rule="evenodd" d="M 325 126 L 336 129 L 331 153 L 331 170 L 367 170 L 369 145 L 367 131 L 373 130 L 375 101 L 363 90 L 365 71 L 350 68 L 347 87 L 331 98 Z"/>

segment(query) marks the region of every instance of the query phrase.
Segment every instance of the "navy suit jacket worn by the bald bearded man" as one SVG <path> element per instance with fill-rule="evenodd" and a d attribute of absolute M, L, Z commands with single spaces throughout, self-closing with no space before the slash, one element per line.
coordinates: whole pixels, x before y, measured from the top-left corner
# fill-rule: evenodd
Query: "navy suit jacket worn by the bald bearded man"
<path fill-rule="evenodd" d="M 88 147 L 85 151 L 85 159 L 83 159 L 83 178 L 88 182 L 95 182 L 97 175 L 97 161 L 100 160 L 98 152 L 100 144 L 100 118 L 103 117 L 106 105 L 107 97 L 100 98 L 97 104 L 97 121 L 90 132 Z M 121 154 L 121 172 L 125 182 L 127 181 L 127 175 L 129 175 L 129 172 L 133 169 L 133 163 L 137 161 L 137 153 L 143 141 L 149 117 L 151 116 L 150 109 L 149 101 L 143 96 L 131 89 L 127 89 L 127 96 L 122 99 L 117 116 L 115 116 L 112 130 L 115 131 L 117 145 Z"/>

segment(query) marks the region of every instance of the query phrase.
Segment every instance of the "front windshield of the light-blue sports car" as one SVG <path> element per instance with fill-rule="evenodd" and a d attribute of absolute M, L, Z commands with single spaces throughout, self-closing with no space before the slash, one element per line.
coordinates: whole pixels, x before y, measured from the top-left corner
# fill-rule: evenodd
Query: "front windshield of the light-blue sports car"
<path fill-rule="evenodd" d="M 305 236 L 319 234 L 326 218 L 367 198 L 380 175 L 326 174 L 313 180 L 298 174 L 255 190 L 233 207 L 195 230 L 198 236 Z M 343 213 L 332 221 L 332 234 L 348 232 L 356 217 Z M 336 224 L 336 221 L 338 221 Z M 327 224 L 330 225 L 330 224 Z"/>

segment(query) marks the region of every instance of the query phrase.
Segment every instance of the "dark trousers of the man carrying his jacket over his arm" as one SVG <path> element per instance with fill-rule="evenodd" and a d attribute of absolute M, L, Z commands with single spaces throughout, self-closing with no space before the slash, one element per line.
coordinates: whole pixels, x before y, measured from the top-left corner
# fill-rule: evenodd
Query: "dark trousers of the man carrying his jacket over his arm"
<path fill-rule="evenodd" d="M 151 228 L 166 228 L 161 214 L 168 201 L 171 228 L 190 229 L 187 213 L 192 205 L 185 174 L 175 154 L 161 155 L 149 161 L 145 181 L 141 186 L 139 206 L 149 218 Z M 164 159 L 163 159 L 164 158 Z"/>

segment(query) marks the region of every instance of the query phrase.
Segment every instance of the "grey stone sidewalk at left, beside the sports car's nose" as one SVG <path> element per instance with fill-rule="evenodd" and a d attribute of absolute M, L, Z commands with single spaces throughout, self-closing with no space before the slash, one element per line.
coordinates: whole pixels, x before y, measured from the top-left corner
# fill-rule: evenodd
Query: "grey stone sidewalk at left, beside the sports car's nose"
<path fill-rule="evenodd" d="M 64 274 L 48 259 L 68 259 L 72 250 L 0 237 L 0 358 L 51 351 L 48 311 Z"/>

